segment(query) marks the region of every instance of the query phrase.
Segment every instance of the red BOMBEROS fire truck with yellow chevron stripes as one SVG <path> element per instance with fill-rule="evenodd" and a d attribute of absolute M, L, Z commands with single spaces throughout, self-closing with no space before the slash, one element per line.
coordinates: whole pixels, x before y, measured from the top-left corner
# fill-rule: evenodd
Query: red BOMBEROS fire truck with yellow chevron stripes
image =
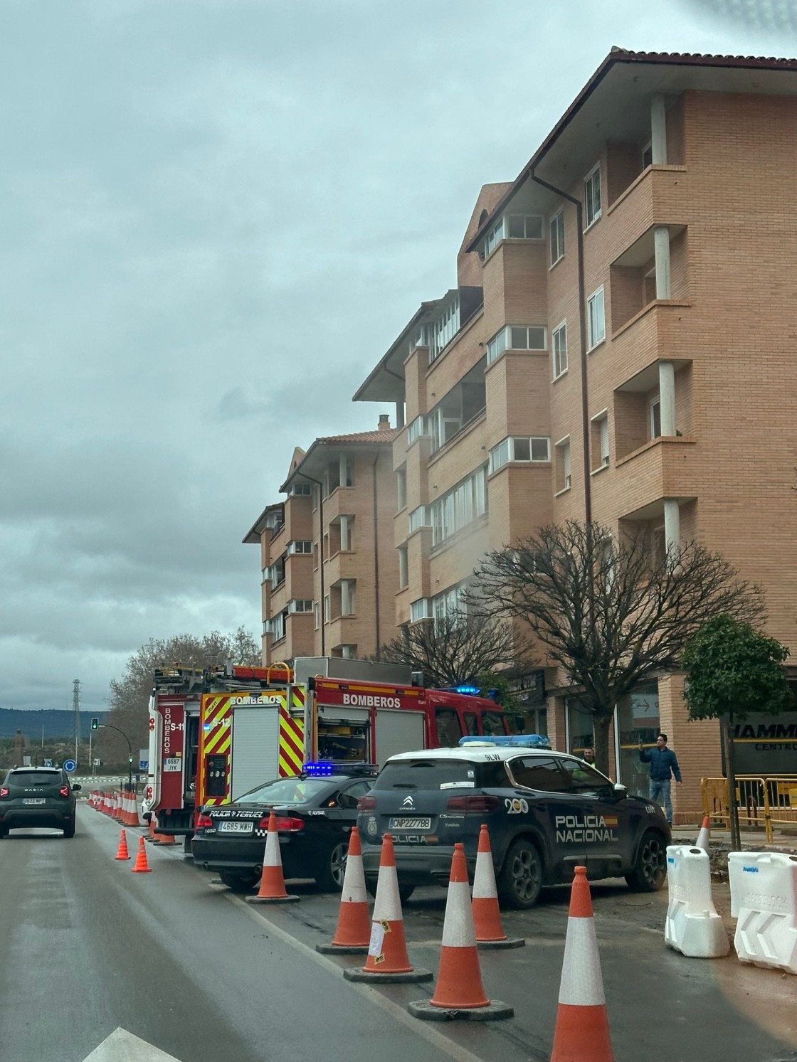
<path fill-rule="evenodd" d="M 493 701 L 424 689 L 409 668 L 339 657 L 275 667 L 205 672 L 190 689 L 177 686 L 196 672 L 156 674 L 145 811 L 159 829 L 189 837 L 201 807 L 298 774 L 308 761 L 380 765 L 464 735 L 509 733 Z"/>

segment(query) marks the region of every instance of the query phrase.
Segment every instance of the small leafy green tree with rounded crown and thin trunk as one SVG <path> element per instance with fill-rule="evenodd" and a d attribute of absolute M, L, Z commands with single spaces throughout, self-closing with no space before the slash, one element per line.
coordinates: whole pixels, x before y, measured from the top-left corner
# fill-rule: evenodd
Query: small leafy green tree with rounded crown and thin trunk
<path fill-rule="evenodd" d="M 731 849 L 739 850 L 739 805 L 733 769 L 733 720 L 751 712 L 777 715 L 792 705 L 783 670 L 788 650 L 749 623 L 714 616 L 686 643 L 683 699 L 691 719 L 719 719 L 728 775 Z"/>

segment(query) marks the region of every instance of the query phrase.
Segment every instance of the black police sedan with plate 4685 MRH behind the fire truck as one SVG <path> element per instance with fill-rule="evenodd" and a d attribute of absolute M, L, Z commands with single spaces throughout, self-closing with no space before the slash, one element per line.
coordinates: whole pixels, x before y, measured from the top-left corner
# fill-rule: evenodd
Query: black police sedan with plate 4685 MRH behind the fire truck
<path fill-rule="evenodd" d="M 320 776 L 274 778 L 232 804 L 204 807 L 191 842 L 193 861 L 218 871 L 228 889 L 250 892 L 260 879 L 273 810 L 285 877 L 312 877 L 320 889 L 335 892 L 343 885 L 357 802 L 376 773 L 372 766 L 329 766 Z"/>

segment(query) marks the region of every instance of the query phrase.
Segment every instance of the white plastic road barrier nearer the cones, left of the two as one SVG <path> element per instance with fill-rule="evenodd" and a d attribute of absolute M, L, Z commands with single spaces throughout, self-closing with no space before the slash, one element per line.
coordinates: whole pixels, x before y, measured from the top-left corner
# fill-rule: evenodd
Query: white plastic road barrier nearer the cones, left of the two
<path fill-rule="evenodd" d="M 664 942 L 690 959 L 720 959 L 730 952 L 725 924 L 711 898 L 709 854 L 688 844 L 667 849 L 669 904 Z"/>

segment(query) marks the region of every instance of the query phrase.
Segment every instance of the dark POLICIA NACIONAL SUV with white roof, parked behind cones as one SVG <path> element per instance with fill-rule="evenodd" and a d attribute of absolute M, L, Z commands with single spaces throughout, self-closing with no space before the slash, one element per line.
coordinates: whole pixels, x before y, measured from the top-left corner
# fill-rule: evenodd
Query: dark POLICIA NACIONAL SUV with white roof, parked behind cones
<path fill-rule="evenodd" d="M 358 805 L 369 886 L 388 833 L 405 895 L 418 885 L 447 883 L 457 841 L 473 877 L 487 823 L 507 907 L 531 907 L 542 886 L 572 881 L 577 866 L 592 879 L 625 877 L 637 891 L 660 889 L 671 841 L 662 809 L 546 744 L 537 735 L 463 738 L 457 748 L 391 756 Z"/>

